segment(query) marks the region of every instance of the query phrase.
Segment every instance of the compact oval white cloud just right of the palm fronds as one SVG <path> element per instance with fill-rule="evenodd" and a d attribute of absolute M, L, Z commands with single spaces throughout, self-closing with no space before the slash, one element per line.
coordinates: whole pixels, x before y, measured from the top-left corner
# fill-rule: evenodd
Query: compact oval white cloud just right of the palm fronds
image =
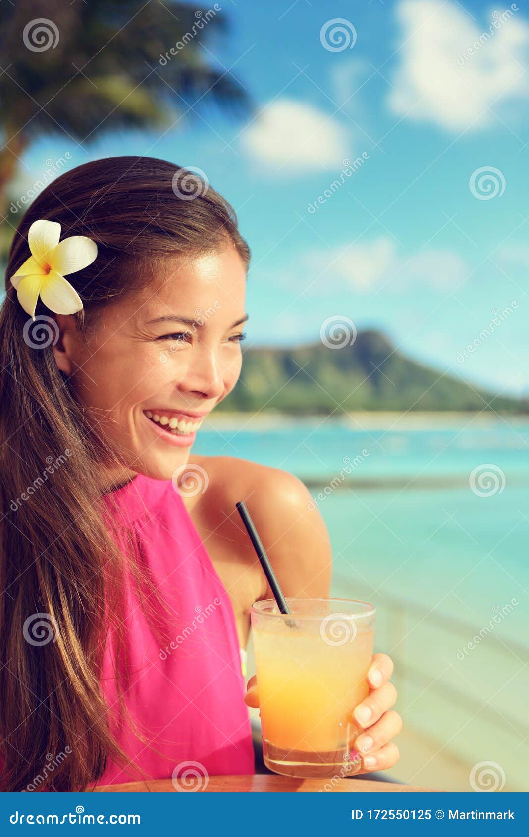
<path fill-rule="evenodd" d="M 347 131 L 323 110 L 293 99 L 278 99 L 244 129 L 241 146 L 250 157 L 286 177 L 313 167 L 343 167 L 351 157 Z"/>

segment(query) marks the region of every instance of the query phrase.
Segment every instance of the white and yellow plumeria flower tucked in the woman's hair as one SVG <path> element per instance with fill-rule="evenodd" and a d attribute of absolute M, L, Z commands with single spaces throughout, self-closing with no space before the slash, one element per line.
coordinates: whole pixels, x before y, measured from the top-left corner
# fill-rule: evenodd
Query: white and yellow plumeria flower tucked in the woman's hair
<path fill-rule="evenodd" d="M 11 277 L 18 302 L 35 319 L 39 295 L 55 314 L 74 314 L 83 307 L 80 295 L 64 276 L 83 270 L 97 257 L 97 244 L 85 235 L 60 238 L 60 224 L 33 221 L 28 231 L 29 259 Z"/>

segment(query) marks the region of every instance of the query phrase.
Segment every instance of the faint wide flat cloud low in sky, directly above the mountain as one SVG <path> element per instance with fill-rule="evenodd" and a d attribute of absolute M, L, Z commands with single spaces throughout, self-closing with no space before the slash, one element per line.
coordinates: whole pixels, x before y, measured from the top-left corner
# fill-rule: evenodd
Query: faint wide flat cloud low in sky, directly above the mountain
<path fill-rule="evenodd" d="M 385 286 L 388 290 L 403 290 L 411 285 L 429 285 L 437 290 L 449 290 L 463 282 L 469 275 L 468 265 L 460 255 L 451 250 L 424 249 L 408 258 L 398 254 L 393 239 L 378 238 L 334 249 L 314 249 L 305 256 L 305 279 L 310 270 L 316 290 L 330 283 L 345 285 L 358 293 L 376 291 Z M 307 282 L 310 285 L 310 281 Z"/>

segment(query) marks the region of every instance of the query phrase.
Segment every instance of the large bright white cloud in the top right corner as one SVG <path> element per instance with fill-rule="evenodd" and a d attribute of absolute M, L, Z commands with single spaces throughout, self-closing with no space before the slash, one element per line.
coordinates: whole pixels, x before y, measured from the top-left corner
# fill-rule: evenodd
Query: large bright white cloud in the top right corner
<path fill-rule="evenodd" d="M 388 104 L 398 116 L 476 130 L 496 121 L 487 105 L 498 112 L 529 95 L 529 26 L 510 5 L 491 8 L 483 28 L 451 0 L 400 0 L 397 17 Z"/>

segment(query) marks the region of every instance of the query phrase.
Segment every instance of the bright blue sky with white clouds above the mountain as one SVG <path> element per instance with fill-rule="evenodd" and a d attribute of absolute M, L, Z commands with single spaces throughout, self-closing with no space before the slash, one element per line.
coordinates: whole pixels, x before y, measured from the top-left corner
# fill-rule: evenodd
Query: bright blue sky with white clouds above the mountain
<path fill-rule="evenodd" d="M 251 124 L 210 105 L 165 136 L 49 137 L 21 193 L 66 151 L 72 167 L 125 149 L 198 167 L 253 252 L 249 343 L 317 341 L 345 316 L 441 371 L 529 393 L 526 0 L 220 5 L 229 31 L 206 55 L 249 90 Z M 487 193 L 475 172 L 491 168 Z"/>

